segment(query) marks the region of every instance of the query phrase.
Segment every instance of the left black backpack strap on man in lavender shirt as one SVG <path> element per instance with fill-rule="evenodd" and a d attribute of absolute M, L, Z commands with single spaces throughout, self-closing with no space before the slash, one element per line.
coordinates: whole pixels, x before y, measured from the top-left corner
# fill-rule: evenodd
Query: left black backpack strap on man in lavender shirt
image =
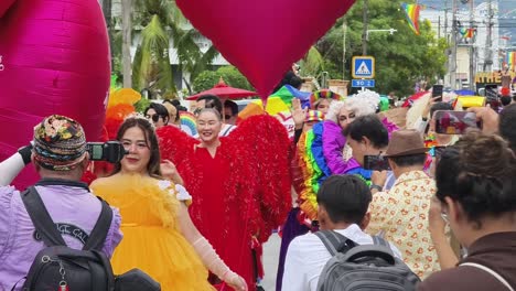
<path fill-rule="evenodd" d="M 30 186 L 21 194 L 25 209 L 31 217 L 32 224 L 34 225 L 41 238 L 47 247 L 53 246 L 66 246 L 63 237 L 55 227 L 52 217 L 46 211 L 45 204 L 41 200 L 40 193 L 37 193 L 34 186 Z"/>

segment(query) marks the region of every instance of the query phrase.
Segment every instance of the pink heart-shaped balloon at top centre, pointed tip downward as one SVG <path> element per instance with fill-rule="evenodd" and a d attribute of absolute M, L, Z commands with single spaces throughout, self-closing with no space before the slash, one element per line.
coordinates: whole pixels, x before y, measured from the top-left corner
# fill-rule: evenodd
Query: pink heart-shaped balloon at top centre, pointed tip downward
<path fill-rule="evenodd" d="M 355 0 L 176 0 L 264 99 Z"/>

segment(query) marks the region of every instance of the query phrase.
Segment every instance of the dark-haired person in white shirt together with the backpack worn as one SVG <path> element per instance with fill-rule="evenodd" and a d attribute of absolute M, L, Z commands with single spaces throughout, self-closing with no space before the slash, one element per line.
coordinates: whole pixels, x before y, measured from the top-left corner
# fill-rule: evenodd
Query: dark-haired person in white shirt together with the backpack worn
<path fill-rule="evenodd" d="M 363 229 L 367 227 L 369 222 L 367 208 L 370 201 L 370 190 L 365 182 L 355 175 L 333 175 L 324 181 L 318 193 L 318 220 L 321 231 L 307 234 L 292 240 L 287 251 L 283 288 L 291 291 L 347 290 L 341 283 L 353 283 L 354 279 L 350 279 L 350 282 L 335 282 L 337 277 L 345 278 L 346 271 L 344 270 L 346 268 L 348 270 L 365 268 L 361 273 L 366 276 L 372 273 L 369 268 L 376 268 L 372 267 L 376 263 L 361 265 L 355 262 L 355 259 L 363 258 L 364 254 L 366 254 L 365 257 L 381 260 L 376 258 L 376 255 L 367 255 L 379 254 L 381 258 L 386 259 L 379 263 L 380 266 L 385 265 L 386 268 L 389 268 L 396 265 L 404 277 L 415 278 L 408 268 L 404 268 L 402 263 L 401 267 L 398 266 L 401 255 L 395 246 L 364 233 Z M 365 250 L 364 247 L 369 248 L 368 252 L 362 252 Z M 353 258 L 346 257 L 352 252 L 354 254 Z"/>

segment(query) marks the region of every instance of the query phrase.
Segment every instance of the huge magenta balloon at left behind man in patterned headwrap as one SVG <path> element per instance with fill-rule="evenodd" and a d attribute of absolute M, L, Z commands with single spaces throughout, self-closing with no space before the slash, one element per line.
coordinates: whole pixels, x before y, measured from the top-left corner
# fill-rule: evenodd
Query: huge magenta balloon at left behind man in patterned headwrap
<path fill-rule="evenodd" d="M 109 57 L 97 0 L 0 0 L 0 161 L 52 114 L 78 120 L 88 140 L 99 139 Z M 35 180 L 25 170 L 14 184 Z"/>

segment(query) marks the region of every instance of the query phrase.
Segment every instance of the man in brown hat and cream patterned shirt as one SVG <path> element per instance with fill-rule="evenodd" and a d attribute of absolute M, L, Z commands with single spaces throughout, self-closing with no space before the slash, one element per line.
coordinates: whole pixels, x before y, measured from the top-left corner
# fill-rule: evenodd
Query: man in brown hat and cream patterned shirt
<path fill-rule="evenodd" d="M 440 268 L 426 219 L 436 194 L 434 181 L 423 172 L 427 152 L 417 130 L 393 132 L 385 157 L 396 183 L 388 192 L 373 195 L 367 227 L 370 235 L 385 234 L 387 240 L 395 242 L 405 262 L 420 278 Z"/>

